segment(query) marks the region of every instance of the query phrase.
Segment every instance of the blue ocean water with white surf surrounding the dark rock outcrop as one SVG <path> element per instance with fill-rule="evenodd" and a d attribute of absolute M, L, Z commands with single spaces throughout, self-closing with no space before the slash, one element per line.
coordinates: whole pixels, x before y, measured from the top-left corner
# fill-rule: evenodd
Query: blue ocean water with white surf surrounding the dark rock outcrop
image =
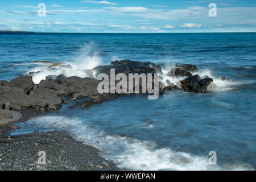
<path fill-rule="evenodd" d="M 122 96 L 87 109 L 68 109 L 19 123 L 16 133 L 67 129 L 125 169 L 251 169 L 256 167 L 256 33 L 1 34 L 0 80 L 53 73 L 113 60 L 151 61 L 168 70 L 195 64 L 214 80 L 209 93 L 168 92 L 158 100 Z M 49 70 L 32 61 L 65 62 Z M 232 81 L 221 81 L 226 76 Z M 217 165 L 208 164 L 216 151 Z"/>

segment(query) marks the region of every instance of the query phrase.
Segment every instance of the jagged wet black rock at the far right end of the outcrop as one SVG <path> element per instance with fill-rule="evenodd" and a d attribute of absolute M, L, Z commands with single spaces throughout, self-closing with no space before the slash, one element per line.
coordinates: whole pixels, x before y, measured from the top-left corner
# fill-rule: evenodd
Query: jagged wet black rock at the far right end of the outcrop
<path fill-rule="evenodd" d="M 205 92 L 211 82 L 212 78 L 201 79 L 200 76 L 194 75 L 181 80 L 181 86 L 186 92 Z"/>

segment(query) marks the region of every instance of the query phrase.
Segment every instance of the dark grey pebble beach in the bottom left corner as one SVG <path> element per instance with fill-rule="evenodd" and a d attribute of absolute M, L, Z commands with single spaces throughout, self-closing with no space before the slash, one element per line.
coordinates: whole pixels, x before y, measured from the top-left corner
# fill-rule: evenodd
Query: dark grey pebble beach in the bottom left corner
<path fill-rule="evenodd" d="M 46 152 L 46 164 L 38 163 L 38 152 Z M 75 140 L 67 131 L 49 131 L 0 138 L 0 170 L 119 170 L 100 150 Z"/>

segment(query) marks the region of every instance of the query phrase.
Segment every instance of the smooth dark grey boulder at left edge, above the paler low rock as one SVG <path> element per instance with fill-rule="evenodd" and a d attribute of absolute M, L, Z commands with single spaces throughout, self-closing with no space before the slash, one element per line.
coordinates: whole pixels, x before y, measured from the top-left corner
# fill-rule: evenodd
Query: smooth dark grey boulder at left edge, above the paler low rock
<path fill-rule="evenodd" d="M 0 97 L 5 105 L 9 105 L 8 107 L 13 109 L 24 109 L 30 106 L 30 99 L 28 98 L 28 95 L 21 91 L 6 91 L 0 94 Z"/>

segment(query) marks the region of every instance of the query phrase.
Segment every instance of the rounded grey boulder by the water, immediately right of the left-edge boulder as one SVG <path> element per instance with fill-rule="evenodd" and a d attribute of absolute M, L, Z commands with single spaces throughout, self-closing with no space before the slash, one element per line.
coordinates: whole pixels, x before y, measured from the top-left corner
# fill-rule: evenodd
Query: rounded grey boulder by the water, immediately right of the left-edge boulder
<path fill-rule="evenodd" d="M 39 109 L 59 109 L 61 98 L 57 93 L 48 88 L 37 88 L 32 90 L 29 95 L 31 106 Z"/>

